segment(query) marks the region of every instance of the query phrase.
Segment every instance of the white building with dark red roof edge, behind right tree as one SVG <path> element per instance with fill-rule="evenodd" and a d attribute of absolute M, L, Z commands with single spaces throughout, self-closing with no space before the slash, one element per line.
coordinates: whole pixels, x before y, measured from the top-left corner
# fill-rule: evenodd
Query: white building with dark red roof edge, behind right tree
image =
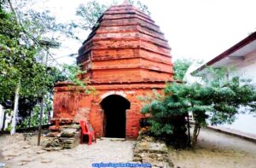
<path fill-rule="evenodd" d="M 235 67 L 236 74 L 256 84 L 256 32 L 192 72 L 204 73 L 206 67 Z M 236 118 L 233 124 L 218 127 L 256 135 L 256 114 L 238 114 Z"/>

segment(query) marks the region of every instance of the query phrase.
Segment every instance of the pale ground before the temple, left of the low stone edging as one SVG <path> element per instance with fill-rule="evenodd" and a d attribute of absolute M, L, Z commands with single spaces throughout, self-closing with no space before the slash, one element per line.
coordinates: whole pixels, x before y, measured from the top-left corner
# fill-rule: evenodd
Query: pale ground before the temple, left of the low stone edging
<path fill-rule="evenodd" d="M 98 139 L 91 146 L 46 152 L 37 146 L 36 136 L 29 141 L 21 134 L 0 136 L 0 162 L 6 164 L 4 168 L 90 168 L 93 163 L 126 163 L 132 160 L 134 143 Z"/>

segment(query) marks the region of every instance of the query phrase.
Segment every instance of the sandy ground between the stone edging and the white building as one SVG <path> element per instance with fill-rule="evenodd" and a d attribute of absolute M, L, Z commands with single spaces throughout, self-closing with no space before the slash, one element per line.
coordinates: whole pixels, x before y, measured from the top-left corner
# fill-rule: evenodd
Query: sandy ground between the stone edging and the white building
<path fill-rule="evenodd" d="M 170 149 L 175 168 L 256 168 L 256 143 L 201 130 L 194 151 Z"/>

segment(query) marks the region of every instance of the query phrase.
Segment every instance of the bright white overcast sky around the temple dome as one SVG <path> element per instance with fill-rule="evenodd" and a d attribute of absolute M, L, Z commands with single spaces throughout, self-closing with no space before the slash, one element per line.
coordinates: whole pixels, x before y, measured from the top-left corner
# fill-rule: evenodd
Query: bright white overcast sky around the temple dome
<path fill-rule="evenodd" d="M 98 0 L 109 3 L 111 0 Z M 86 0 L 48 0 L 42 8 L 54 12 L 57 20 L 68 22 L 79 3 Z M 118 0 L 122 3 L 123 0 Z M 152 19 L 165 33 L 172 57 L 210 60 L 256 31 L 256 0 L 141 0 Z M 39 6 L 39 4 L 38 4 Z M 84 32 L 84 40 L 87 38 Z M 81 43 L 64 42 L 56 55 L 77 52 Z M 70 59 L 58 61 L 70 63 Z"/>

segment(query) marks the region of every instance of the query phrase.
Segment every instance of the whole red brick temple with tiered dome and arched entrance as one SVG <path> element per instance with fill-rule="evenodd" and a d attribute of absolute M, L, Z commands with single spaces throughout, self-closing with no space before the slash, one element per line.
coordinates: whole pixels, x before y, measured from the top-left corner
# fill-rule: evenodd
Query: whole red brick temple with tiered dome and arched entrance
<path fill-rule="evenodd" d="M 109 8 L 79 49 L 77 62 L 94 94 L 70 83 L 55 84 L 54 118 L 87 119 L 97 136 L 134 138 L 142 104 L 138 96 L 172 81 L 170 47 L 160 27 L 124 3 Z"/>

